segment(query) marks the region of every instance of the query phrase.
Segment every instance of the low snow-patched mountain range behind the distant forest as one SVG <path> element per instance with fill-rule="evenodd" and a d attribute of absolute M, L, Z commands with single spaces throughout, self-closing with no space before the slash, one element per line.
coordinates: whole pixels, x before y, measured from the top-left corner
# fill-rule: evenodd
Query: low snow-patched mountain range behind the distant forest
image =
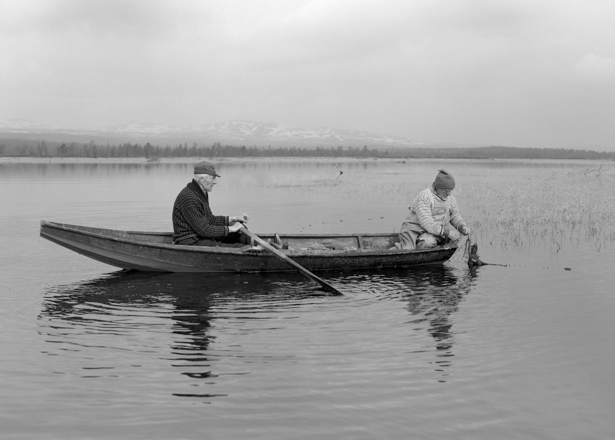
<path fill-rule="evenodd" d="M 2 137 L 39 137 L 55 140 L 82 140 L 127 142 L 139 141 L 152 144 L 197 142 L 246 145 L 246 146 L 429 146 L 429 143 L 397 136 L 378 135 L 357 130 L 336 128 L 292 128 L 271 122 L 228 120 L 200 127 L 172 126 L 166 124 L 130 124 L 114 127 L 74 130 L 34 124 L 23 120 L 0 120 Z M 62 138 L 64 137 L 64 138 Z"/>

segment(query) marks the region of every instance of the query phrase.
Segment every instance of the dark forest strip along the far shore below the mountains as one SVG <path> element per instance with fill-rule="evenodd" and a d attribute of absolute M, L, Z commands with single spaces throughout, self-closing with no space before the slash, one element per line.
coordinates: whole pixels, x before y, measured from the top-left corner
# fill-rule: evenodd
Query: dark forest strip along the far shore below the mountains
<path fill-rule="evenodd" d="M 0 156 L 17 157 L 370 157 L 397 159 L 598 159 L 615 160 L 615 152 L 563 148 L 472 147 L 434 148 L 407 147 L 378 149 L 363 147 L 246 147 L 245 145 L 199 145 L 196 142 L 164 147 L 146 144 L 62 143 L 28 139 L 0 139 Z"/>

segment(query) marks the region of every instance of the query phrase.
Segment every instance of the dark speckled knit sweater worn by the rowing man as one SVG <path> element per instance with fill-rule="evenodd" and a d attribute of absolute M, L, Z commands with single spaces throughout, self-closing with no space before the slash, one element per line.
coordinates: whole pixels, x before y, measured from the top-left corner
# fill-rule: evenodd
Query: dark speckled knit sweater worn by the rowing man
<path fill-rule="evenodd" d="M 189 237 L 220 239 L 229 234 L 229 218 L 215 216 L 209 196 L 194 179 L 180 191 L 173 204 L 173 243 Z"/>

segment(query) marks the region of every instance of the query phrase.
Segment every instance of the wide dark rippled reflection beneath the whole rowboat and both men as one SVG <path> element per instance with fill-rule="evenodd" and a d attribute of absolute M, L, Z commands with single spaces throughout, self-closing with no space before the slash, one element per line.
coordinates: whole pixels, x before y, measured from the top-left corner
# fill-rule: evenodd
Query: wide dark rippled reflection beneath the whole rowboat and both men
<path fill-rule="evenodd" d="M 342 297 L 323 294 L 299 273 L 115 272 L 49 288 L 39 325 L 46 341 L 54 343 L 49 344 L 49 354 L 56 355 L 54 372 L 88 378 L 151 376 L 165 392 L 192 398 L 238 393 L 238 388 L 215 385 L 223 377 L 266 368 L 276 359 L 296 364 L 312 356 L 313 345 L 301 346 L 306 334 L 322 336 L 324 345 L 339 344 L 331 339 L 336 333 L 351 334 L 349 345 L 378 345 L 383 336 L 370 330 L 371 323 L 390 325 L 391 335 L 399 333 L 399 326 L 423 334 L 427 329 L 435 350 L 431 342 L 416 347 L 415 353 L 425 353 L 441 372 L 451 366 L 453 356 L 450 315 L 472 280 L 467 270 L 462 277 L 458 272 L 434 265 L 341 273 L 332 280 L 344 285 L 348 294 Z M 413 316 L 410 321 L 407 313 L 400 313 L 400 301 Z M 398 348 L 407 348 L 403 344 Z M 338 355 L 354 362 L 352 353 L 354 348 L 344 352 L 342 347 Z M 183 382 L 177 374 L 164 374 L 177 369 Z M 191 382 L 185 383 L 186 378 Z M 122 390 L 135 386 L 122 384 Z"/>

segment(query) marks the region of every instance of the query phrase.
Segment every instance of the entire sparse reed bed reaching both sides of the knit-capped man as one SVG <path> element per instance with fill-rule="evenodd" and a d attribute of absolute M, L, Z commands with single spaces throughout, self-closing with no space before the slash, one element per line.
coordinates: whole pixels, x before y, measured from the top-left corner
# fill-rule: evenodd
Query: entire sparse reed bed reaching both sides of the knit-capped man
<path fill-rule="evenodd" d="M 400 204 L 400 224 L 413 198 L 430 183 L 419 175 L 361 173 L 284 187 L 346 200 Z M 515 168 L 458 173 L 454 195 L 462 216 L 483 245 L 522 248 L 615 242 L 615 172 L 605 165 L 573 170 Z M 397 226 L 399 227 L 399 226 Z"/>

